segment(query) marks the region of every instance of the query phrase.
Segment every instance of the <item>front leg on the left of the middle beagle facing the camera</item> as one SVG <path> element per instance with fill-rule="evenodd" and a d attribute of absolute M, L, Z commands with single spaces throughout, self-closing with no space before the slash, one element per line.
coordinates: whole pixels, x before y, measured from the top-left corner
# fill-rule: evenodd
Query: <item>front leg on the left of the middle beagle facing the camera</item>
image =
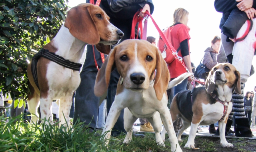
<path fill-rule="evenodd" d="M 101 140 L 106 140 L 106 142 L 105 142 L 106 146 L 108 145 L 108 142 L 109 142 L 108 139 L 110 138 L 111 130 L 114 127 L 114 124 L 116 123 L 118 117 L 120 116 L 122 109 L 123 108 L 120 107 L 120 105 L 118 105 L 118 103 L 116 103 L 116 100 L 113 102 L 113 104 L 110 108 L 105 127 L 102 131 L 102 135 L 104 135 L 104 136 L 102 136 L 102 138 L 101 138 Z M 106 131 L 109 131 L 109 132 L 106 133 Z"/>

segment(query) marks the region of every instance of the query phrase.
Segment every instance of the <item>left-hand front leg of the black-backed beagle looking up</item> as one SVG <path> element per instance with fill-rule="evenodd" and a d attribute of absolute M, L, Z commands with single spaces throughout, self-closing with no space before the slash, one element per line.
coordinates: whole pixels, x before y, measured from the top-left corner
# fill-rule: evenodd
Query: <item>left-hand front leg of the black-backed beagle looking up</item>
<path fill-rule="evenodd" d="M 199 116 L 193 116 L 192 122 L 191 122 L 191 125 L 190 125 L 190 132 L 189 132 L 189 136 L 188 136 L 188 142 L 185 144 L 184 147 L 195 148 L 196 130 L 197 130 L 197 127 L 200 124 L 201 118 L 202 117 L 199 117 Z"/>

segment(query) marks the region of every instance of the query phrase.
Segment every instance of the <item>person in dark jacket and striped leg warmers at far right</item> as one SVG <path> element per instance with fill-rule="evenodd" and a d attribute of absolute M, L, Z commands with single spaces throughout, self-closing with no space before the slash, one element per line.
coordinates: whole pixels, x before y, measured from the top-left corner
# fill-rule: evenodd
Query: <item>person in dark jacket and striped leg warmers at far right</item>
<path fill-rule="evenodd" d="M 223 34 L 222 27 L 228 20 L 228 17 L 230 16 L 233 9 L 238 8 L 240 11 L 245 12 L 248 16 L 248 19 L 250 19 L 252 17 L 252 14 L 254 15 L 254 8 L 256 8 L 256 0 L 215 0 L 214 8 L 217 12 L 222 13 L 222 18 L 220 20 L 222 46 L 224 48 L 224 52 L 228 59 L 228 62 L 232 64 L 232 61 L 233 61 L 232 51 L 235 43 L 230 41 L 228 37 Z M 250 15 L 249 15 L 249 12 L 250 12 Z M 232 125 L 232 123 L 230 122 L 232 121 L 232 117 L 234 115 L 235 116 L 234 118 L 235 136 L 252 137 L 252 131 L 250 130 L 249 120 L 248 118 L 246 118 L 245 112 L 244 112 L 244 102 L 243 102 L 244 83 L 245 81 L 241 79 L 242 94 L 236 94 L 234 92 L 232 95 L 233 108 L 232 108 L 232 112 L 228 116 L 228 122 L 226 124 L 226 134 L 228 134 L 229 132 L 228 130 L 230 130 L 230 127 Z M 219 135 L 218 130 L 215 135 Z"/>

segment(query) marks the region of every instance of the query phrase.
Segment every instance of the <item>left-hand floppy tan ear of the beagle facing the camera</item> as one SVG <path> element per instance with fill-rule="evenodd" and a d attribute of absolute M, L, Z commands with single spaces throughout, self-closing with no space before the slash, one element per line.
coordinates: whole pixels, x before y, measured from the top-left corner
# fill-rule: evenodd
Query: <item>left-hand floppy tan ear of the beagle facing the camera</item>
<path fill-rule="evenodd" d="M 102 96 L 108 90 L 110 73 L 114 70 L 113 66 L 115 66 L 116 48 L 117 46 L 114 50 L 110 51 L 110 54 L 106 57 L 102 67 L 97 73 L 94 85 L 95 96 Z"/>

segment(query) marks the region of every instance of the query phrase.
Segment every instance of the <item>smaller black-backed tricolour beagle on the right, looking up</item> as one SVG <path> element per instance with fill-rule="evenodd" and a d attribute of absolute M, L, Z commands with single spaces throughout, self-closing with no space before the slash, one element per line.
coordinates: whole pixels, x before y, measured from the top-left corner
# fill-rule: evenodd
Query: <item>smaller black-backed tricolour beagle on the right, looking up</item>
<path fill-rule="evenodd" d="M 205 87 L 194 88 L 193 92 L 185 90 L 176 94 L 171 103 L 170 113 L 173 122 L 178 118 L 183 120 L 178 132 L 178 140 L 181 140 L 184 130 L 191 126 L 185 147 L 195 148 L 194 139 L 198 125 L 209 125 L 218 121 L 221 146 L 233 147 L 225 138 L 225 128 L 232 110 L 234 91 L 241 94 L 240 73 L 232 64 L 223 63 L 212 68 Z M 161 135 L 163 139 L 164 135 Z"/>

